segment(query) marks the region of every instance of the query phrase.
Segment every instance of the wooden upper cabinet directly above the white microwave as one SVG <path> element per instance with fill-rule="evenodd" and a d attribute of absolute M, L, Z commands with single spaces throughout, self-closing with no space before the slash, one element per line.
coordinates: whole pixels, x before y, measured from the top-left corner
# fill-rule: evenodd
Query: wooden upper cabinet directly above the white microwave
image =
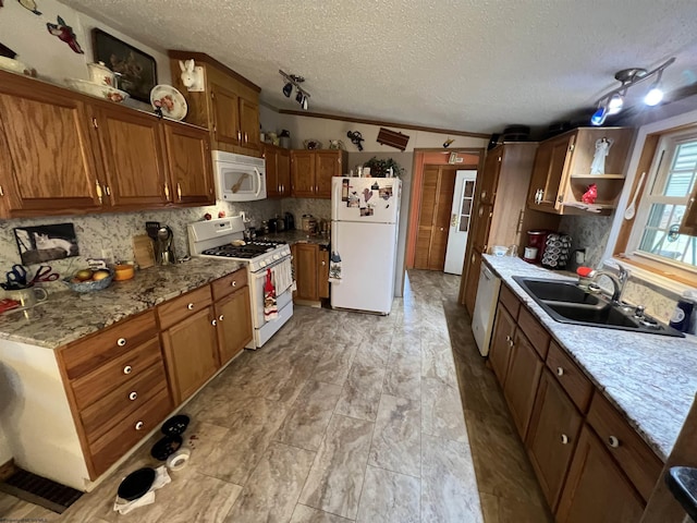
<path fill-rule="evenodd" d="M 185 120 L 207 127 L 216 150 L 261 156 L 259 93 L 261 88 L 200 52 L 170 50 L 172 84 L 188 105 Z M 180 60 L 194 59 L 204 69 L 204 92 L 189 92 L 181 81 Z"/>

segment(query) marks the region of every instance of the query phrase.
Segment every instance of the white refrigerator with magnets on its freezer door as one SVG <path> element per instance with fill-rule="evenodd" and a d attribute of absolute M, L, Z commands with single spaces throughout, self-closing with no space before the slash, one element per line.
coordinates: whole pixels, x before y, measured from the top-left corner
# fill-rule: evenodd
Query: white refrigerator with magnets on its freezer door
<path fill-rule="evenodd" d="M 335 177 L 331 184 L 331 306 L 390 314 L 402 182 Z"/>

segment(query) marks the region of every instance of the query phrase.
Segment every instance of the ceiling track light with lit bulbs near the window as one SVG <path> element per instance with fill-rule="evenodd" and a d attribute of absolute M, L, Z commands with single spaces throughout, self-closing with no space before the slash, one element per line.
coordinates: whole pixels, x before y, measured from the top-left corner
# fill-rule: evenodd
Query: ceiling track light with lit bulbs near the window
<path fill-rule="evenodd" d="M 661 89 L 661 75 L 663 74 L 665 68 L 668 68 L 674 61 L 675 58 L 671 58 L 658 68 L 648 72 L 646 71 L 646 69 L 641 68 L 631 68 L 617 71 L 614 75 L 614 78 L 617 82 L 621 82 L 622 85 L 600 97 L 600 99 L 598 100 L 598 109 L 596 110 L 596 112 L 594 112 L 592 117 L 590 117 L 591 125 L 602 125 L 608 115 L 617 114 L 624 106 L 624 98 L 627 95 L 627 89 L 640 82 L 650 78 L 656 74 L 658 74 L 658 77 L 656 82 L 651 84 L 651 87 L 644 97 L 644 104 L 646 104 L 647 106 L 656 106 L 660 104 L 663 99 L 663 90 Z"/>

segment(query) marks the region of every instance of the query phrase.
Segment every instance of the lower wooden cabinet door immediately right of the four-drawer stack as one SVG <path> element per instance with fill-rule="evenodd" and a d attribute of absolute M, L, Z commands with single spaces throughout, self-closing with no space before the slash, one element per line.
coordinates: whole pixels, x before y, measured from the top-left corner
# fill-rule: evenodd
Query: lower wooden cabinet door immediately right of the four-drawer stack
<path fill-rule="evenodd" d="M 180 405 L 220 366 L 212 307 L 192 314 L 162 332 L 162 344 L 172 396 Z"/>

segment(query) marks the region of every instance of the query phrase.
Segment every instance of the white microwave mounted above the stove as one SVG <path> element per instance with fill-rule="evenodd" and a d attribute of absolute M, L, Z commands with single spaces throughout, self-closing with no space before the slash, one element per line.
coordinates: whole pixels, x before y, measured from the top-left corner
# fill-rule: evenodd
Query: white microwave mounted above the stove
<path fill-rule="evenodd" d="M 266 198 L 264 158 L 213 150 L 216 197 L 223 202 L 254 202 Z"/>

